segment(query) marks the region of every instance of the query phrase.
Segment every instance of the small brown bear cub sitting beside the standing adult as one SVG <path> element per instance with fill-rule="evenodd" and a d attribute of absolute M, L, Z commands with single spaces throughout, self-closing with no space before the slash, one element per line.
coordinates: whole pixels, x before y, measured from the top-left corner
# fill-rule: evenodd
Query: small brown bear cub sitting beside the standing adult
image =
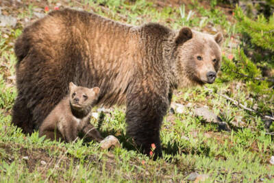
<path fill-rule="evenodd" d="M 99 88 L 69 84 L 69 95 L 49 113 L 39 128 L 39 136 L 66 143 L 75 141 L 80 133 L 84 138 L 102 141 L 99 132 L 90 124 L 90 110 L 99 96 Z"/>

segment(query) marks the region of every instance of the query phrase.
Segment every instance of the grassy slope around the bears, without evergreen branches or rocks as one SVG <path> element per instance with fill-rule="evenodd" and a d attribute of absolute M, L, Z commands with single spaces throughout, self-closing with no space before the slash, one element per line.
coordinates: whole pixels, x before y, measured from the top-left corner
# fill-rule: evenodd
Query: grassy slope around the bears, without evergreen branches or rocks
<path fill-rule="evenodd" d="M 10 124 L 10 110 L 16 97 L 14 41 L 26 25 L 26 19 L 30 22 L 37 19 L 34 12 L 44 12 L 46 5 L 53 10 L 56 5 L 54 0 L 31 2 L 23 1 L 16 6 L 5 4 L 2 9 L 2 14 L 16 16 L 18 24 L 14 29 L 0 29 L 0 182 L 180 182 L 192 171 L 210 175 L 208 182 L 258 182 L 260 178 L 271 182 L 274 168 L 269 164 L 269 158 L 273 155 L 274 145 L 271 136 L 264 134 L 260 116 L 238 108 L 216 94 L 227 94 L 251 107 L 256 99 L 249 97 L 251 91 L 246 90 L 240 81 L 218 80 L 206 87 L 178 90 L 173 101 L 189 103 L 190 108 L 186 108 L 184 114 L 169 114 L 164 119 L 161 131 L 164 158 L 157 161 L 139 154 L 125 136 L 123 108 L 115 108 L 100 125 L 103 136 L 117 136 L 123 148 L 102 151 L 96 143 L 64 144 L 44 141 L 38 138 L 37 132 L 32 136 L 22 134 Z M 135 3 L 97 2 L 64 1 L 62 5 L 93 10 L 110 19 L 134 25 L 154 21 L 173 29 L 186 25 L 210 31 L 206 25 L 213 23 L 225 34 L 224 56 L 233 53 L 233 49 L 227 49 L 227 45 L 233 45 L 230 36 L 236 36 L 233 19 L 226 17 L 219 8 L 210 12 L 193 3 L 179 8 L 174 3 L 171 7 L 169 3 L 139 0 Z M 195 14 L 184 10 L 192 10 Z M 204 19 L 205 16 L 208 19 Z M 232 132 L 219 132 L 216 125 L 202 123 L 193 115 L 192 109 L 197 106 L 208 106 L 216 114 L 221 113 L 227 123 L 236 121 L 240 127 L 234 127 Z M 96 120 L 92 123 L 99 126 Z"/>

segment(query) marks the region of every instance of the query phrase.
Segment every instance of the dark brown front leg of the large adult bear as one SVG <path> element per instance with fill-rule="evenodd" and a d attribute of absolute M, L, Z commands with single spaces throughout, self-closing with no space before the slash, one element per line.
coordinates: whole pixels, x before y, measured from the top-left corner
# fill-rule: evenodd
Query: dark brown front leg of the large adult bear
<path fill-rule="evenodd" d="M 127 94 L 127 134 L 134 138 L 144 154 L 151 156 L 151 144 L 155 144 L 153 159 L 162 156 L 160 127 L 169 107 L 168 92 L 147 92 L 148 89 L 132 90 Z"/>

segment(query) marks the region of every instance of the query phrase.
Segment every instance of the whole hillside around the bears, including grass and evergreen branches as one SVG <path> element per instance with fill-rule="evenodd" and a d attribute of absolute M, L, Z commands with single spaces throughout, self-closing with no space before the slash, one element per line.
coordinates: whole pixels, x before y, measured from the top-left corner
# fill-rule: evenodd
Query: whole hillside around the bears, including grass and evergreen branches
<path fill-rule="evenodd" d="M 66 7 L 132 25 L 157 22 L 223 32 L 216 82 L 173 96 L 160 134 L 162 159 L 140 154 L 126 135 L 125 106 L 91 121 L 104 137 L 119 138 L 121 148 L 110 150 L 94 142 L 48 141 L 38 132 L 25 135 L 11 124 L 14 42 L 23 27 Z M 0 1 L 0 182 L 273 182 L 273 30 L 273 1 Z"/>

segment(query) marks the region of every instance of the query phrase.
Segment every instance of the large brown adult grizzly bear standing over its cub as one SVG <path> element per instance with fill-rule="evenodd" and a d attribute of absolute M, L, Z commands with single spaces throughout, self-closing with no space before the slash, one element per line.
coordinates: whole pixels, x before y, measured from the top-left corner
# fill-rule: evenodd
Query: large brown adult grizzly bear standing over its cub
<path fill-rule="evenodd" d="M 12 123 L 38 130 L 69 93 L 69 83 L 101 88 L 98 105 L 127 106 L 127 134 L 148 154 L 161 155 L 160 126 L 173 89 L 212 83 L 221 61 L 222 34 L 158 23 L 125 25 L 77 10 L 50 12 L 26 27 L 18 58 Z"/>

